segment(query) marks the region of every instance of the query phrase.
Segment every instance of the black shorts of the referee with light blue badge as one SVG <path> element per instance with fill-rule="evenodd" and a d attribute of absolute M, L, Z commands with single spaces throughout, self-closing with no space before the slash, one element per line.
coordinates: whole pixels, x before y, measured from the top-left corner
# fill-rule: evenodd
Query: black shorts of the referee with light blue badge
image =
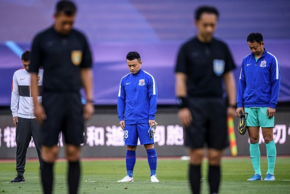
<path fill-rule="evenodd" d="M 193 149 L 224 149 L 229 145 L 224 99 L 216 97 L 189 98 L 191 126 L 185 128 L 184 145 Z"/>

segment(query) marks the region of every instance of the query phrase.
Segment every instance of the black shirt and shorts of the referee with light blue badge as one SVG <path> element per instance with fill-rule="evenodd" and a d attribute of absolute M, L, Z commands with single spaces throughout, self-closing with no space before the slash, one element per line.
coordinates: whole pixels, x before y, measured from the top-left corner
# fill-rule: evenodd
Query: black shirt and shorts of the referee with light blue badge
<path fill-rule="evenodd" d="M 187 75 L 187 100 L 192 122 L 185 145 L 193 149 L 223 149 L 229 145 L 222 76 L 235 68 L 226 44 L 215 38 L 202 43 L 196 37 L 182 45 L 175 72 Z"/>

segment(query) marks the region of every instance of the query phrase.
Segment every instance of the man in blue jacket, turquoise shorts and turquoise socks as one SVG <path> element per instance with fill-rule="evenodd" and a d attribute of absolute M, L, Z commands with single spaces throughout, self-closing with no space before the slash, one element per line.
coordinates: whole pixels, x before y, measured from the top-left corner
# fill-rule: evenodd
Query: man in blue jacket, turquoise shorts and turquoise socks
<path fill-rule="evenodd" d="M 259 130 L 262 128 L 267 149 L 268 172 L 264 181 L 274 181 L 276 146 L 273 140 L 274 115 L 280 90 L 280 67 L 277 58 L 267 52 L 263 36 L 250 33 L 247 37 L 251 54 L 244 57 L 238 86 L 236 116 L 247 116 L 250 155 L 255 174 L 248 181 L 262 180 L 260 169 Z M 244 108 L 244 109 L 243 109 Z"/>

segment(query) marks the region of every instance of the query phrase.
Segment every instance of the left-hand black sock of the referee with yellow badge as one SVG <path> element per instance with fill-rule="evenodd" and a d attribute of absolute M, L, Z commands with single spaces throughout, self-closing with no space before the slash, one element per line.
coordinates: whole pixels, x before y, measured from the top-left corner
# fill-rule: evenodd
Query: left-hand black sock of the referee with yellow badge
<path fill-rule="evenodd" d="M 44 194 L 52 193 L 53 163 L 43 161 L 41 167 L 41 181 Z"/>

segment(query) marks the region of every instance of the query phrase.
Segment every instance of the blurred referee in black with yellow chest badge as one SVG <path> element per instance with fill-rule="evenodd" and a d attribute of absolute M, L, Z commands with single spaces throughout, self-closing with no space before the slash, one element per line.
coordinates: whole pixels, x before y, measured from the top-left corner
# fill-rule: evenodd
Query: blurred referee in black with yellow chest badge
<path fill-rule="evenodd" d="M 58 1 L 54 24 L 38 33 L 32 43 L 30 62 L 34 113 L 42 124 L 41 180 L 44 193 L 52 193 L 53 163 L 58 154 L 58 136 L 66 141 L 69 193 L 77 193 L 80 177 L 80 144 L 84 143 L 84 119 L 94 112 L 92 104 L 92 58 L 84 35 L 73 29 L 76 6 Z M 37 102 L 38 68 L 44 68 L 42 105 Z M 79 90 L 86 92 L 81 104 Z"/>

